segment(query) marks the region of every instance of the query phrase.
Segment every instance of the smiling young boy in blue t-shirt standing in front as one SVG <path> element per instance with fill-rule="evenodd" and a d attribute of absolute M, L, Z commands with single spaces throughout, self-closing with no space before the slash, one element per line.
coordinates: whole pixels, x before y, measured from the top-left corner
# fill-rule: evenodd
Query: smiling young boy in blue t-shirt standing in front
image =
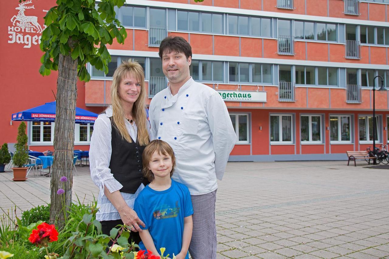
<path fill-rule="evenodd" d="M 150 181 L 135 200 L 134 210 L 144 222 L 140 232 L 141 250 L 159 255 L 161 247 L 177 259 L 189 259 L 192 236 L 192 202 L 189 190 L 170 177 L 175 157 L 172 147 L 162 140 L 153 140 L 143 151 L 144 175 Z M 157 250 L 158 249 L 158 250 Z"/>

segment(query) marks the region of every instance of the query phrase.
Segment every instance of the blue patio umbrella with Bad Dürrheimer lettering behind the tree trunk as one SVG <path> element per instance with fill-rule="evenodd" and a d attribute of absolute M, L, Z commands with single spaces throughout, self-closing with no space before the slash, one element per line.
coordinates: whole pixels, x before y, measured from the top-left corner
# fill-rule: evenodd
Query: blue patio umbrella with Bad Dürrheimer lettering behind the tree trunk
<path fill-rule="evenodd" d="M 56 102 L 45 103 L 28 110 L 13 113 L 11 121 L 54 121 Z M 98 114 L 81 108 L 75 108 L 75 123 L 94 123 Z"/>

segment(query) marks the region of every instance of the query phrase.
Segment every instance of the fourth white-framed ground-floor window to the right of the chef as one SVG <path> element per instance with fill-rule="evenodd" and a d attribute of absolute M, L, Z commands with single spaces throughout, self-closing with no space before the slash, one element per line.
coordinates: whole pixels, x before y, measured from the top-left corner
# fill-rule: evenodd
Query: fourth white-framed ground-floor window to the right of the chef
<path fill-rule="evenodd" d="M 331 115 L 329 117 L 331 142 L 351 143 L 351 116 Z"/>

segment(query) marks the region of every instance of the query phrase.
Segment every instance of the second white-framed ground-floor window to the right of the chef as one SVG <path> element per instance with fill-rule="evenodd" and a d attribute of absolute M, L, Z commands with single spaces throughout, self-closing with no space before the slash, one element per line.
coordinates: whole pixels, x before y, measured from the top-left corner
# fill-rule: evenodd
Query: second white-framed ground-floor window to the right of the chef
<path fill-rule="evenodd" d="M 291 144 L 293 143 L 292 115 L 270 115 L 270 143 Z"/>

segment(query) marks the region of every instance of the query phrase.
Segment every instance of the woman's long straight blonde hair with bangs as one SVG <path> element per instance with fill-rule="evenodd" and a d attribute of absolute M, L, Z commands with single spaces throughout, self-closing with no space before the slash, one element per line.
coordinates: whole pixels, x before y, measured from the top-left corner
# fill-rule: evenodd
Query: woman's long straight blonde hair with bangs
<path fill-rule="evenodd" d="M 140 93 L 138 99 L 132 107 L 132 117 L 138 127 L 137 140 L 139 145 L 145 146 L 150 142 L 149 133 L 147 131 L 147 115 L 145 107 L 146 90 L 145 90 L 145 76 L 141 65 L 133 59 L 123 61 L 118 66 L 113 75 L 111 86 L 111 102 L 112 102 L 112 124 L 119 131 L 119 134 L 127 142 L 132 142 L 130 134 L 127 131 L 124 121 L 124 108 L 119 96 L 119 86 L 124 76 L 130 74 L 134 76 L 140 83 Z"/>

